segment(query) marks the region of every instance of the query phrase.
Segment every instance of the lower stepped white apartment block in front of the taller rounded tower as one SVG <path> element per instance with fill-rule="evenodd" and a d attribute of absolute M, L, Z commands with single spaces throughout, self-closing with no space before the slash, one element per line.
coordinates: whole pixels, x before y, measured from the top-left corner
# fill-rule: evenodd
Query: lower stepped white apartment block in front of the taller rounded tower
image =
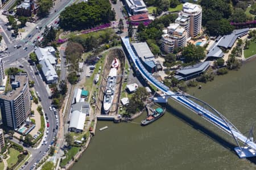
<path fill-rule="evenodd" d="M 171 53 L 174 48 L 183 47 L 187 43 L 187 31 L 177 23 L 167 27 L 167 33 L 162 35 L 161 48 L 166 53 Z"/>

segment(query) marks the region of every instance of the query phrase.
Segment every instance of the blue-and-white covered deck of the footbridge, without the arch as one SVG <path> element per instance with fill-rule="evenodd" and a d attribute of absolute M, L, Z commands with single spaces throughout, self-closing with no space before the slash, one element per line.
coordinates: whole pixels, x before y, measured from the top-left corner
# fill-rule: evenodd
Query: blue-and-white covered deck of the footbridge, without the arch
<path fill-rule="evenodd" d="M 144 68 L 142 65 L 140 59 L 135 55 L 131 45 L 130 41 L 126 37 L 122 37 L 122 42 L 125 45 L 125 48 L 127 49 L 127 52 L 129 53 L 129 56 L 131 57 L 133 63 L 135 64 L 135 67 L 138 69 L 139 73 L 151 84 L 153 84 L 156 88 L 158 88 L 160 91 L 164 92 L 164 94 L 171 95 L 170 97 L 176 101 L 178 101 L 180 104 L 184 105 L 185 107 L 191 109 L 191 111 L 195 112 L 196 114 L 200 114 L 205 120 L 211 122 L 213 125 L 217 126 L 221 130 L 225 131 L 226 133 L 232 135 L 234 134 L 234 137 L 242 141 L 243 143 L 246 143 L 250 148 L 256 151 L 256 144 L 254 142 L 251 142 L 247 139 L 245 135 L 243 135 L 240 131 L 238 131 L 235 127 L 233 127 L 232 124 L 229 124 L 229 126 L 226 126 L 225 122 L 212 112 L 208 111 L 207 109 L 201 107 L 201 105 L 195 103 L 192 100 L 189 100 L 185 96 L 175 96 L 175 93 L 170 91 L 167 86 L 159 82 L 157 79 L 155 79 L 148 71 Z"/>

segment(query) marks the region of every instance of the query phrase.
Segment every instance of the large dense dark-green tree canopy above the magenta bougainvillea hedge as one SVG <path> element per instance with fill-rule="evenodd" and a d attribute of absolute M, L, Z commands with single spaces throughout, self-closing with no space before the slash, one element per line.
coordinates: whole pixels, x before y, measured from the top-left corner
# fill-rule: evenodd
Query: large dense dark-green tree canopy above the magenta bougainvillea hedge
<path fill-rule="evenodd" d="M 74 3 L 60 13 L 60 27 L 65 30 L 80 30 L 109 23 L 114 19 L 114 11 L 109 1 L 90 0 Z"/>

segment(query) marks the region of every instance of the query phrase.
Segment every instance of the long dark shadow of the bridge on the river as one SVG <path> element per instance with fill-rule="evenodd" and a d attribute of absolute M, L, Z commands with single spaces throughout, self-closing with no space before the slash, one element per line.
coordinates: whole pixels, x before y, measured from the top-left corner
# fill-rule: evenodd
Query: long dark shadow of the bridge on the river
<path fill-rule="evenodd" d="M 225 138 L 221 137 L 220 135 L 216 134 L 214 131 L 205 128 L 203 125 L 201 125 L 199 122 L 196 122 L 195 120 L 192 120 L 192 118 L 188 117 L 184 113 L 178 111 L 177 109 L 171 107 L 170 104 L 160 104 L 161 107 L 165 107 L 167 111 L 174 115 L 175 117 L 179 118 L 179 120 L 185 122 L 187 125 L 191 126 L 193 129 L 199 131 L 200 133 L 206 135 L 210 139 L 212 139 L 214 142 L 217 142 L 221 146 L 225 147 L 226 149 L 230 150 L 233 154 L 237 155 L 237 153 L 234 151 L 234 147 L 237 147 L 234 145 L 234 139 L 233 137 L 230 137 L 230 140 L 233 140 L 234 142 L 229 142 Z M 189 111 L 191 112 L 191 111 Z M 238 159 L 240 159 L 237 156 Z M 247 158 L 251 163 L 256 164 L 256 157 L 253 158 Z"/>

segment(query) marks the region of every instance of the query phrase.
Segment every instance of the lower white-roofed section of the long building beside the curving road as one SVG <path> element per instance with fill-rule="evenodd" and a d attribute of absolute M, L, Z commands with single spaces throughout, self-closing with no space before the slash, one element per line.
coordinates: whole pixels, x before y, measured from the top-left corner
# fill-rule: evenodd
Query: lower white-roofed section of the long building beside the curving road
<path fill-rule="evenodd" d="M 59 76 L 57 75 L 54 67 L 51 65 L 48 59 L 42 59 L 40 62 L 42 65 L 42 73 L 46 79 L 46 83 L 57 83 Z"/>

